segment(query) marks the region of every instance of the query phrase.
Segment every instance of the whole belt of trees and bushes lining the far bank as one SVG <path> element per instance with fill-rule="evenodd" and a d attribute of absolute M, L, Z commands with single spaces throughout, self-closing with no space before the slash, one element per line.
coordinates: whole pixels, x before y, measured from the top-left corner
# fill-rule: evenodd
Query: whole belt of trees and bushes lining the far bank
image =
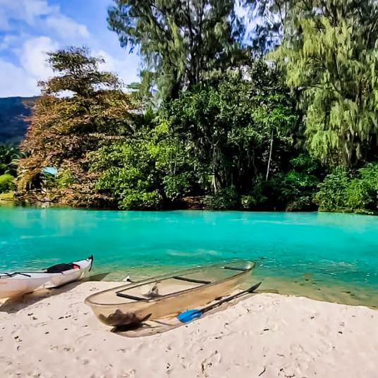
<path fill-rule="evenodd" d="M 83 48 L 49 54 L 18 199 L 376 214 L 377 16 L 372 0 L 114 0 L 141 83 Z"/>

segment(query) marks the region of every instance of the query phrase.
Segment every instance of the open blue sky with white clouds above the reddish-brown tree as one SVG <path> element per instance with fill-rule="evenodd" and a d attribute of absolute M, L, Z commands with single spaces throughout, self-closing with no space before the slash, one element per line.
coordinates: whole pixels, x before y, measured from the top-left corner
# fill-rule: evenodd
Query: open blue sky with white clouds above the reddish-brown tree
<path fill-rule="evenodd" d="M 87 46 L 104 69 L 124 83 L 138 80 L 140 59 L 121 49 L 107 29 L 111 0 L 0 0 L 0 97 L 39 94 L 37 80 L 51 75 L 46 52 Z"/>

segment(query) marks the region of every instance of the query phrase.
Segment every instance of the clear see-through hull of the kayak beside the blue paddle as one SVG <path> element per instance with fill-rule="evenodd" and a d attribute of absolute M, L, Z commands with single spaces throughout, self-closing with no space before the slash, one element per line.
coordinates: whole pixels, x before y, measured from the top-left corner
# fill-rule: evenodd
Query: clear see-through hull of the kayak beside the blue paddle
<path fill-rule="evenodd" d="M 185 271 L 185 273 L 178 272 L 168 278 L 140 281 L 139 283 L 95 293 L 90 295 L 85 300 L 85 303 L 90 305 L 97 318 L 108 326 L 121 327 L 138 324 L 146 319 L 153 320 L 174 316 L 183 310 L 200 307 L 212 302 L 214 299 L 228 295 L 248 279 L 251 269 L 252 267 L 235 269 L 230 276 L 212 281 L 191 279 L 193 274 L 197 272 L 195 269 L 189 273 L 188 271 Z M 180 279 L 184 282 L 189 280 L 190 282 L 188 282 L 187 286 L 185 284 L 176 286 L 173 292 L 166 295 L 157 295 L 156 298 L 149 299 L 145 298 L 145 295 L 135 295 L 135 291 L 138 288 L 154 285 L 159 288 L 164 284 L 164 281 L 172 281 L 172 279 Z M 122 297 L 119 298 L 117 294 L 129 296 L 131 299 L 126 299 L 122 302 Z M 112 300 L 114 303 L 111 303 Z M 116 303 L 117 301 L 118 303 Z"/>

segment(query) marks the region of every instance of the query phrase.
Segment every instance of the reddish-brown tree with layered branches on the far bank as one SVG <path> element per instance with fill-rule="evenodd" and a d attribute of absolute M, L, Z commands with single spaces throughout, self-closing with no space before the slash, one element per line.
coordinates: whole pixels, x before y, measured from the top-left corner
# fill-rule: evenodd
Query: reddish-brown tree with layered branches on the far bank
<path fill-rule="evenodd" d="M 39 83 L 42 97 L 34 106 L 23 149 L 29 153 L 19 163 L 20 200 L 34 193 L 69 205 L 101 205 L 106 198 L 94 190 L 96 173 L 87 154 L 106 140 L 133 133 L 130 96 L 115 75 L 99 70 L 102 59 L 84 48 L 49 53 L 56 75 Z M 50 170 L 49 170 L 50 167 Z M 53 182 L 46 172 L 57 171 Z"/>

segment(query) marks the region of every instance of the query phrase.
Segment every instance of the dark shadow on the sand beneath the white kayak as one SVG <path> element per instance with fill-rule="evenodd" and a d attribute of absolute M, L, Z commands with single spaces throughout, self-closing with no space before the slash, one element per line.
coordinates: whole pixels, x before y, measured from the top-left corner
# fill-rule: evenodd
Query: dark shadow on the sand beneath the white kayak
<path fill-rule="evenodd" d="M 7 312 L 8 314 L 15 314 L 16 312 L 23 310 L 30 305 L 38 303 L 39 300 L 44 298 L 50 298 L 54 295 L 59 295 L 61 293 L 66 293 L 72 290 L 76 286 L 83 284 L 88 281 L 103 281 L 110 272 L 94 274 L 93 276 L 83 279 L 81 281 L 71 282 L 69 284 L 59 286 L 58 288 L 45 288 L 38 291 L 33 291 L 32 293 L 24 294 L 18 298 L 9 298 L 2 305 L 0 305 L 0 312 Z"/>

